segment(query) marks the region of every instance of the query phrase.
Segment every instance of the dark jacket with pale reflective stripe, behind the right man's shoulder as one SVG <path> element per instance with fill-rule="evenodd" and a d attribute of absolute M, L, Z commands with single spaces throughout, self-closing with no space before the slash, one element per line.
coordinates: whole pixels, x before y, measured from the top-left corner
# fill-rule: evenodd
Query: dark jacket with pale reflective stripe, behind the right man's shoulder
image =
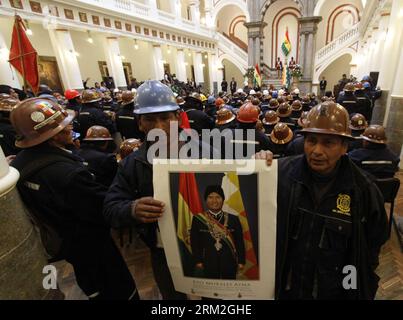
<path fill-rule="evenodd" d="M 399 170 L 399 157 L 386 145 L 356 149 L 348 155 L 357 166 L 378 179 L 393 178 Z"/>

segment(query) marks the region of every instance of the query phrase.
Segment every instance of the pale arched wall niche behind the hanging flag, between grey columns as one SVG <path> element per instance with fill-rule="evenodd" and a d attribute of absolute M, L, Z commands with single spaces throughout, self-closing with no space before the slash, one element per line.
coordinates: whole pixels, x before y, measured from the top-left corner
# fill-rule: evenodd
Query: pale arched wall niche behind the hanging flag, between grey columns
<path fill-rule="evenodd" d="M 297 4 L 292 0 L 283 0 L 283 1 L 276 1 L 274 2 L 269 9 L 266 11 L 266 15 L 264 17 L 264 22 L 267 23 L 267 26 L 264 28 L 264 42 L 263 42 L 263 62 L 266 63 L 268 66 L 275 67 L 275 52 L 277 51 L 277 57 L 280 57 L 284 63 L 284 54 L 281 50 L 281 45 L 285 39 L 285 31 L 288 27 L 288 34 L 291 41 L 291 53 L 288 56 L 288 60 L 291 57 L 297 59 L 297 45 L 299 42 L 299 35 L 298 35 L 298 20 L 293 15 L 287 14 L 286 16 L 282 17 L 279 25 L 278 25 L 278 42 L 276 47 L 276 30 L 274 30 L 273 37 L 273 20 L 276 17 L 277 13 L 279 13 L 282 9 L 292 7 L 298 9 Z M 288 12 L 290 10 L 284 11 Z M 292 10 L 294 14 L 297 14 L 295 10 Z M 298 15 L 298 14 L 297 14 Z M 276 23 L 274 24 L 274 29 L 276 28 Z M 272 50 L 272 39 L 273 39 L 273 46 L 275 46 L 274 50 Z M 274 53 L 272 57 L 272 52 Z M 273 62 L 273 65 L 272 65 Z"/>

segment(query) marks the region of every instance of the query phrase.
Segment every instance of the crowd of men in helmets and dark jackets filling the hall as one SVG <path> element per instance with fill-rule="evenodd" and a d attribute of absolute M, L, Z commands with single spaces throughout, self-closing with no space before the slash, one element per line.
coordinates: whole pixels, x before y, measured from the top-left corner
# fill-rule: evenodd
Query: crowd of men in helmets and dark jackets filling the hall
<path fill-rule="evenodd" d="M 189 92 L 191 86 L 172 90 L 175 82 L 168 82 L 133 81 L 126 91 L 100 85 L 64 95 L 42 85 L 37 97 L 21 101 L 12 89 L 0 95 L 0 143 L 21 173 L 22 199 L 55 230 L 60 244 L 45 246 L 73 265 L 85 294 L 139 298 L 109 232 L 135 227 L 150 248 L 163 298 L 186 298 L 169 276 L 157 226 L 165 204 L 153 197 L 147 158 L 149 132 L 172 135 L 170 124 L 177 122 L 179 130 L 190 126 L 199 135 L 239 130 L 243 139 L 231 143 L 245 150 L 252 143 L 248 157 L 268 165 L 279 159 L 276 298 L 373 299 L 387 239 L 374 180 L 393 177 L 399 158 L 387 146 L 385 129 L 370 124 L 366 81 L 347 83 L 337 102 L 331 94 L 319 100 L 298 89 L 231 87 L 205 96 Z M 345 265 L 358 269 L 355 291 L 343 289 Z"/>

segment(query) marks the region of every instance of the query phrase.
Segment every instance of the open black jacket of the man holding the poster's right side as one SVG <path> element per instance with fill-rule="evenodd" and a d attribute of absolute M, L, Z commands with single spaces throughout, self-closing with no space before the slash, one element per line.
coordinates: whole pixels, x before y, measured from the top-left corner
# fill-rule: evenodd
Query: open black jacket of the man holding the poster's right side
<path fill-rule="evenodd" d="M 295 236 L 296 208 L 312 196 L 305 156 L 284 158 L 278 162 L 276 298 L 283 298 L 287 285 L 286 259 Z M 379 277 L 375 274 L 381 246 L 387 240 L 387 219 L 383 198 L 375 184 L 347 156 L 340 162 L 332 194 L 351 197 L 351 233 L 347 264 L 357 268 L 357 290 L 346 291 L 349 299 L 374 299 Z M 326 194 L 326 197 L 330 195 Z M 340 197 L 340 195 L 339 195 Z M 333 201 L 333 200 L 332 200 Z M 328 204 L 329 205 L 329 204 Z M 332 205 L 332 204 L 330 204 Z M 333 204 L 336 207 L 336 203 Z M 326 214 L 327 212 L 325 212 Z M 335 225 L 337 234 L 340 226 Z M 337 231 L 338 230 L 338 231 Z M 316 230 L 318 231 L 318 230 Z M 341 231 L 340 231 L 341 232 Z M 344 231 L 343 231 L 344 232 Z M 325 252 L 332 253 L 332 248 Z M 323 263 L 323 261 L 322 261 Z M 331 259 L 325 263 L 333 263 Z M 333 269 L 334 270 L 334 269 Z"/>

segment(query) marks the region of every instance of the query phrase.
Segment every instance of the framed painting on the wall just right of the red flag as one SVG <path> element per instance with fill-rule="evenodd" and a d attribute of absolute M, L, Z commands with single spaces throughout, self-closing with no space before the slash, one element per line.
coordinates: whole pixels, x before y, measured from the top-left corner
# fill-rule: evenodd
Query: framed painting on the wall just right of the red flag
<path fill-rule="evenodd" d="M 39 82 L 48 85 L 53 91 L 64 92 L 59 67 L 55 57 L 38 57 Z"/>

